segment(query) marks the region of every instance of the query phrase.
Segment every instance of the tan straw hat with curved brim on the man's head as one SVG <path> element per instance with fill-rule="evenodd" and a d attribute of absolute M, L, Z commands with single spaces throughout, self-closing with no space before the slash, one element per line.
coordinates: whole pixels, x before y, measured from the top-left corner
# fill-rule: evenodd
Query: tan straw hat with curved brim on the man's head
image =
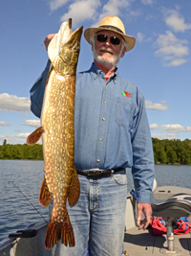
<path fill-rule="evenodd" d="M 117 16 L 107 16 L 103 18 L 97 28 L 89 28 L 84 31 L 84 37 L 86 40 L 92 44 L 91 37 L 100 31 L 114 31 L 121 35 L 128 45 L 126 52 L 134 48 L 136 43 L 136 38 L 132 35 L 125 35 L 125 27 L 122 21 Z"/>

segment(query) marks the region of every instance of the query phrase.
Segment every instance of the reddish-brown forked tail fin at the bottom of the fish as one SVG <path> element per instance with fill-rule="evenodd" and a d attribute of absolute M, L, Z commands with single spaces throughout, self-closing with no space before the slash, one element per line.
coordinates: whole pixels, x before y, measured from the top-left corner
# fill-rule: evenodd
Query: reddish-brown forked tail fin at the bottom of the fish
<path fill-rule="evenodd" d="M 67 246 L 69 244 L 70 247 L 74 247 L 74 232 L 73 226 L 69 217 L 66 221 L 53 221 L 51 219 L 47 233 L 45 237 L 45 248 L 51 249 L 58 241 L 61 241 L 62 244 Z"/>

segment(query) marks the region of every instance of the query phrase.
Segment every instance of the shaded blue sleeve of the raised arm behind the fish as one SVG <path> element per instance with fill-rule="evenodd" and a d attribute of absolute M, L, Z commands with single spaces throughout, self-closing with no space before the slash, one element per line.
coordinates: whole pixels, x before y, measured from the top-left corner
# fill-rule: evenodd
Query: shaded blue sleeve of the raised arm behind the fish
<path fill-rule="evenodd" d="M 48 60 L 45 70 L 42 72 L 40 77 L 32 85 L 31 93 L 31 110 L 32 113 L 40 118 L 45 85 L 47 81 L 47 76 L 50 70 L 51 61 Z"/>

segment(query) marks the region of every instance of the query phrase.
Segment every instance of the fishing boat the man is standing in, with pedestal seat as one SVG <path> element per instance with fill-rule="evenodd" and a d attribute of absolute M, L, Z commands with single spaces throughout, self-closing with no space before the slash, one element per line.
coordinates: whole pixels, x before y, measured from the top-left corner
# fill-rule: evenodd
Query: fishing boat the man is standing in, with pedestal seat
<path fill-rule="evenodd" d="M 161 217 L 165 221 L 166 233 L 154 236 L 151 232 L 152 226 L 146 230 L 138 230 L 136 193 L 128 193 L 121 255 L 191 255 L 191 233 L 174 234 L 180 218 L 187 218 L 188 223 L 191 222 L 191 189 L 177 186 L 157 187 L 156 181 L 154 184 L 151 204 L 153 218 L 156 220 Z M 0 256 L 51 256 L 52 250 L 47 250 L 44 246 L 48 222 L 49 220 L 34 222 L 26 229 L 10 234 L 0 242 Z"/>

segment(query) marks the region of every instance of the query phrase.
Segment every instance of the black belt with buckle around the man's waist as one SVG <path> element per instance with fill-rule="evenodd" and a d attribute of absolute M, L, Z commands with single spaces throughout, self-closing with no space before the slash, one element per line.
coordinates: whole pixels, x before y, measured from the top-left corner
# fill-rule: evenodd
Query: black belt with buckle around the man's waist
<path fill-rule="evenodd" d="M 77 170 L 77 175 L 84 175 L 84 176 L 89 176 L 89 177 L 102 177 L 102 176 L 111 176 L 117 172 L 125 170 L 124 168 L 117 168 L 117 169 L 111 169 L 111 170 L 97 170 L 97 169 L 92 169 L 89 171 L 78 171 Z"/>

